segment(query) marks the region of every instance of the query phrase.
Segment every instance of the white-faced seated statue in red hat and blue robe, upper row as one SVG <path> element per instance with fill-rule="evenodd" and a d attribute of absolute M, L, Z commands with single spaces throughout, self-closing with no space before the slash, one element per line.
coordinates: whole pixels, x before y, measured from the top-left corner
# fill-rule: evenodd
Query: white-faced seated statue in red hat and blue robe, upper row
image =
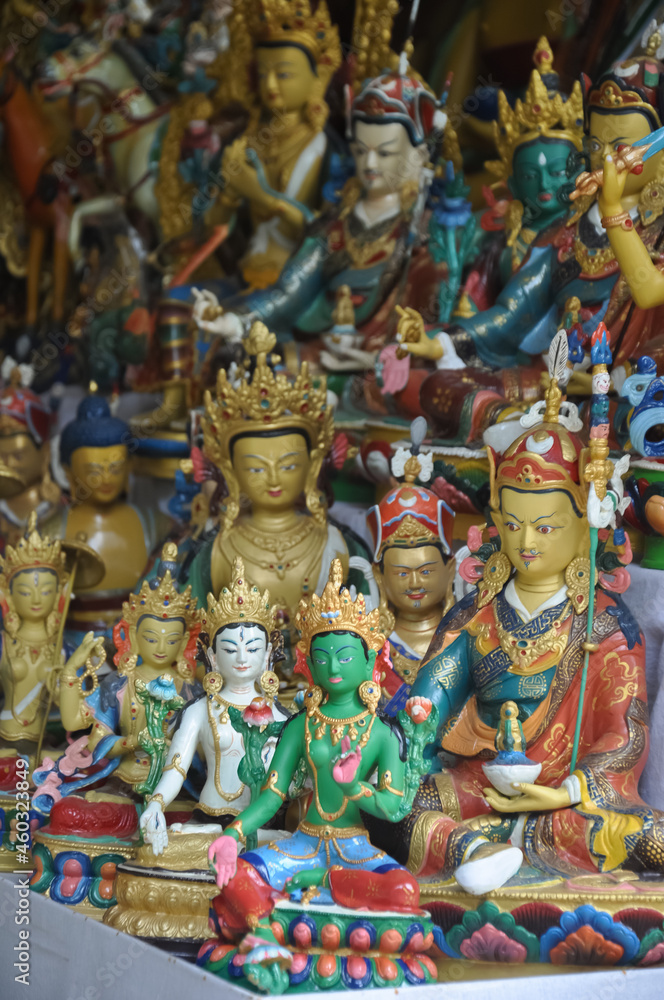
<path fill-rule="evenodd" d="M 427 308 L 442 272 L 426 252 L 415 255 L 408 287 L 402 285 L 413 213 L 421 216 L 418 196 L 429 147 L 445 122 L 433 93 L 414 77 L 385 73 L 365 80 L 351 110 L 356 176 L 347 182 L 340 206 L 305 230 L 278 282 L 222 301 L 218 332 L 239 339 L 262 320 L 280 338 L 290 339 L 293 331 L 325 333 L 334 325 L 337 292 L 344 285 L 351 291 L 355 324 L 367 336 L 384 338 L 397 298 Z M 214 354 L 214 345 L 210 350 Z"/>

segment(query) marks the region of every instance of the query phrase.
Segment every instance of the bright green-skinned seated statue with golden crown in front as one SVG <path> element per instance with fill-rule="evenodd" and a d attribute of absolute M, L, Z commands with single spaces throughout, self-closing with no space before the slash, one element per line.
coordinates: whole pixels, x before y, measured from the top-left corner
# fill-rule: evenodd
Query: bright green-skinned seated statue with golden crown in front
<path fill-rule="evenodd" d="M 316 947 L 314 929 L 319 923 L 336 923 L 337 933 L 331 937 L 326 933 L 323 938 L 323 947 L 334 952 L 340 944 L 343 921 L 348 921 L 348 909 L 355 911 L 349 934 L 358 912 L 367 929 L 379 916 L 374 911 L 387 911 L 393 928 L 404 914 L 409 921 L 425 916 L 418 907 L 417 882 L 389 854 L 373 846 L 364 817 L 381 816 L 389 821 L 410 809 L 411 793 L 425 766 L 419 754 L 425 734 L 433 728 L 427 723 L 429 718 L 435 723 L 435 713 L 430 717 L 431 704 L 424 699 L 417 705 L 407 703 L 399 723 L 388 721 L 377 711 L 381 693 L 378 677 L 389 647 L 380 632 L 378 609 L 367 613 L 363 596 L 353 600 L 342 580 L 341 563 L 335 560 L 322 596 L 314 594 L 300 604 L 298 661 L 310 682 L 304 711 L 286 723 L 259 797 L 210 847 L 221 889 L 211 914 L 219 940 L 202 950 L 199 962 L 225 978 L 244 975 L 268 992 L 282 992 L 309 975 L 316 975 L 314 982 L 327 979 L 330 985 L 335 981 L 331 978 L 335 973 L 338 976 L 334 954 L 327 970 L 325 963 L 318 963 L 315 974 L 313 960 L 307 958 L 304 963 L 295 953 L 306 956 L 309 945 Z M 406 727 L 408 750 L 402 726 Z M 305 819 L 288 839 L 239 854 L 239 843 L 280 808 L 301 759 L 313 783 Z M 374 775 L 377 784 L 371 783 Z M 520 861 L 518 849 L 489 844 L 481 835 L 467 831 L 456 875 L 465 881 L 464 868 L 474 865 L 476 874 L 483 870 L 488 882 L 496 886 Z M 279 914 L 284 912 L 282 905 L 288 909 L 292 894 L 296 900 L 301 897 L 296 913 L 305 910 L 307 916 L 301 920 L 309 927 L 309 934 L 302 938 L 296 935 L 296 948 L 289 949 Z M 292 910 L 288 912 L 290 921 Z M 319 920 L 317 912 L 321 913 Z M 360 978 L 367 974 L 362 983 L 355 982 L 358 973 L 348 963 L 351 985 L 367 985 L 371 981 L 368 973 L 376 967 L 380 975 L 380 957 L 371 950 L 372 932 L 375 935 L 372 928 L 366 935 L 351 938 L 358 951 L 370 955 L 369 968 L 365 964 L 369 959 L 359 963 Z M 396 940 L 398 947 L 400 933 Z M 379 954 L 383 948 L 381 941 Z M 427 969 L 430 973 L 431 966 Z M 419 976 L 419 981 L 429 979 L 427 975 L 425 980 L 423 973 Z M 418 977 L 409 981 L 416 982 Z"/>

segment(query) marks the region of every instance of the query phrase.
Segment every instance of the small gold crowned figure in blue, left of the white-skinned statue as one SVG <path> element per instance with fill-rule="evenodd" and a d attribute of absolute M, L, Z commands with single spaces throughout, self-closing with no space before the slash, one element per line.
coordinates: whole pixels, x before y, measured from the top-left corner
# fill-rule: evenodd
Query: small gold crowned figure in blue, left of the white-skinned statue
<path fill-rule="evenodd" d="M 145 581 L 138 594 L 132 594 L 123 604 L 122 618 L 113 629 L 117 672 L 107 674 L 88 693 L 75 669 L 67 666 L 63 671 L 62 723 L 70 732 L 92 726 L 86 741 L 91 752 L 88 764 L 103 763 L 101 769 L 87 777 L 60 786 L 61 794 L 111 774 L 130 789 L 142 784 L 151 762 L 140 742 L 146 727 L 141 691 L 162 679 L 172 680 L 177 694 L 186 701 L 200 690 L 194 663 L 200 613 L 190 588 L 178 591 L 176 557 L 177 547 L 167 543 L 159 575 L 150 583 Z"/>

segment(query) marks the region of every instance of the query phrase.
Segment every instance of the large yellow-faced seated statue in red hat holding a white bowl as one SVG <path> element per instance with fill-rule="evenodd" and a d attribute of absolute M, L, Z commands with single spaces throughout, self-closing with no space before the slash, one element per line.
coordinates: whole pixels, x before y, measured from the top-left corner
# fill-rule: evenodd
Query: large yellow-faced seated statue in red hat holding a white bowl
<path fill-rule="evenodd" d="M 593 385 L 608 391 L 606 367 Z M 544 414 L 540 403 L 524 416 L 527 429 L 504 454 L 489 449 L 499 544 L 477 589 L 441 622 L 412 688 L 438 706 L 440 763 L 432 758 L 436 773 L 384 839 L 419 875 L 452 871 L 461 821 L 521 846 L 543 878 L 664 873 L 664 817 L 638 794 L 648 748 L 643 638 L 620 597 L 593 578 L 591 529 L 596 540 L 615 525 L 625 462 L 609 472 L 608 444 L 595 453 L 598 433 L 608 435 L 606 396 L 599 423 L 591 418 L 590 454 L 576 408 L 560 399 L 554 377 Z M 537 782 L 511 795 L 487 787 L 483 771 L 506 702 L 541 765 Z"/>

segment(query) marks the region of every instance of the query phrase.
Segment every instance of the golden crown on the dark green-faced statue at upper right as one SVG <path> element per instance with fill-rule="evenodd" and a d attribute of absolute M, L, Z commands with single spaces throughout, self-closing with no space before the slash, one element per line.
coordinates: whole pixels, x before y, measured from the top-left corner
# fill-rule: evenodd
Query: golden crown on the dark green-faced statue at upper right
<path fill-rule="evenodd" d="M 553 53 L 542 35 L 535 48 L 533 60 L 544 73 L 552 72 Z M 489 160 L 486 168 L 500 180 L 512 173 L 514 151 L 524 142 L 541 136 L 566 139 L 577 149 L 583 146 L 583 96 L 577 82 L 567 100 L 562 94 L 550 93 L 539 69 L 534 69 L 526 91 L 525 100 L 510 106 L 504 91 L 498 91 L 498 121 L 493 123 L 493 136 L 499 160 Z"/>

